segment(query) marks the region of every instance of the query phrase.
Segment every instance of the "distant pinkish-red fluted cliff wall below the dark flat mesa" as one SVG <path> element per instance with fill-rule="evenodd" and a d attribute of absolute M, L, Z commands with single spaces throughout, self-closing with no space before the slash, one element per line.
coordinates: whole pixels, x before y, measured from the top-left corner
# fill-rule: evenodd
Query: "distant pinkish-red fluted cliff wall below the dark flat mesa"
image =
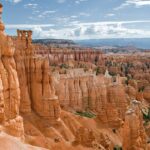
<path fill-rule="evenodd" d="M 35 45 L 37 54 L 46 56 L 49 55 L 49 63 L 51 65 L 58 65 L 68 61 L 82 61 L 91 62 L 96 64 L 102 64 L 103 53 L 101 51 L 91 50 L 89 48 L 57 48 L 41 44 Z"/>

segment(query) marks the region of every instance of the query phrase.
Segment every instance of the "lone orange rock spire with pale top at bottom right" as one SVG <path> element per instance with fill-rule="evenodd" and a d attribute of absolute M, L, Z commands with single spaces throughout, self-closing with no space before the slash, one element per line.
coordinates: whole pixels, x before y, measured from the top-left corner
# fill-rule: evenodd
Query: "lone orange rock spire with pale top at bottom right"
<path fill-rule="evenodd" d="M 132 101 L 125 117 L 122 130 L 123 147 L 125 149 L 146 149 L 146 134 L 142 124 L 141 102 Z"/>

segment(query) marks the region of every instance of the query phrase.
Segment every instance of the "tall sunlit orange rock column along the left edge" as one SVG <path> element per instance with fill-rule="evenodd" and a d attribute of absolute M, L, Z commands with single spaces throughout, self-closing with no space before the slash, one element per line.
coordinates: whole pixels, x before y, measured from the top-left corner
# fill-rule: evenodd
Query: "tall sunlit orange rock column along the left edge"
<path fill-rule="evenodd" d="M 0 45 L 0 122 L 2 130 L 23 138 L 23 120 L 19 116 L 20 88 L 13 57 L 15 49 L 11 38 L 3 30 L 0 30 Z"/>

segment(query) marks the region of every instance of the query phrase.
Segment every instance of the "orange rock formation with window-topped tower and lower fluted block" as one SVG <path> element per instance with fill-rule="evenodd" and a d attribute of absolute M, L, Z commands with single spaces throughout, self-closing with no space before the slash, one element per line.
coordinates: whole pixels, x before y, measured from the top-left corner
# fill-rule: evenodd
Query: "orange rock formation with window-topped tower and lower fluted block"
<path fill-rule="evenodd" d="M 33 55 L 30 32 L 18 31 L 18 34 L 19 37 L 14 42 L 21 85 L 20 111 L 25 114 L 33 109 L 39 116 L 55 121 L 60 116 L 60 106 L 55 95 L 48 58 Z"/>

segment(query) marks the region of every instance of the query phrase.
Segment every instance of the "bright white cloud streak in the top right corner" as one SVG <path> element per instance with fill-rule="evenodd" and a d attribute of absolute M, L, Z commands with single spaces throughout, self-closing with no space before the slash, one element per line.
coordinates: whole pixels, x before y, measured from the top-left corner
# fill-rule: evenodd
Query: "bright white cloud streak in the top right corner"
<path fill-rule="evenodd" d="M 130 6 L 130 5 L 133 5 L 136 8 L 139 8 L 142 6 L 150 6 L 150 0 L 126 0 L 119 7 L 114 8 L 114 10 L 123 9 L 127 6 Z"/>

